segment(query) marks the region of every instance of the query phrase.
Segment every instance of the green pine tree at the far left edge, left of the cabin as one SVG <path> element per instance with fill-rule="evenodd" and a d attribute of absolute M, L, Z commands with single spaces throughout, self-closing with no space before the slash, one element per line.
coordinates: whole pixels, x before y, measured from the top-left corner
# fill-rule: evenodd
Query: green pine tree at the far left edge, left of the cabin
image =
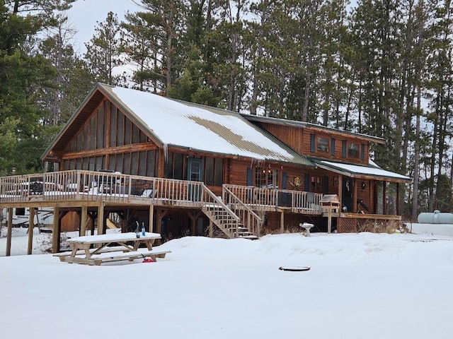
<path fill-rule="evenodd" d="M 0 170 L 4 172 L 9 173 L 11 166 L 18 173 L 40 170 L 39 155 L 45 149 L 40 121 L 48 116 L 40 93 L 55 87 L 55 69 L 37 52 L 37 33 L 55 24 L 54 10 L 67 8 L 71 2 L 0 3 L 0 129 L 5 143 Z"/>

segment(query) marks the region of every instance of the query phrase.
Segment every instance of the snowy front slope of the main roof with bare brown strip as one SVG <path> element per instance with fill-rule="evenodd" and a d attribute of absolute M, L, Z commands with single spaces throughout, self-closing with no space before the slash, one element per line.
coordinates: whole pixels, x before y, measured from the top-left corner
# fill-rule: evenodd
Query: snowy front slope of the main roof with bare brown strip
<path fill-rule="evenodd" d="M 305 157 L 253 126 L 240 114 L 210 112 L 152 93 L 106 87 L 164 146 L 311 165 Z"/>

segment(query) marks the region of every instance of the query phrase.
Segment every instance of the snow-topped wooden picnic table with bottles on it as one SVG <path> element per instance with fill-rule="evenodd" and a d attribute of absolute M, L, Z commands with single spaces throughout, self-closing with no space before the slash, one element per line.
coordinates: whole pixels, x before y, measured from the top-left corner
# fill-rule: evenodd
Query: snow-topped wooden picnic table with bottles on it
<path fill-rule="evenodd" d="M 164 258 L 171 251 L 156 251 L 153 243 L 156 239 L 161 239 L 161 234 L 145 232 L 139 234 L 128 233 L 108 233 L 98 235 L 87 235 L 68 239 L 71 251 L 55 254 L 60 261 L 66 263 L 83 263 L 86 265 L 101 265 L 112 261 L 129 260 L 137 258 Z M 141 244 L 146 245 L 147 249 L 139 249 Z M 113 246 L 111 246 L 113 245 Z"/>

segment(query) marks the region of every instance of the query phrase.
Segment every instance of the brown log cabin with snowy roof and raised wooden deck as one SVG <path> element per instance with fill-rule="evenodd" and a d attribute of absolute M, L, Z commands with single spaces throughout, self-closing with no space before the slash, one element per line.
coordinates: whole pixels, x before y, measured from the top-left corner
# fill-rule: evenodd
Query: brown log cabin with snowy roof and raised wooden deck
<path fill-rule="evenodd" d="M 0 178 L 0 206 L 9 244 L 13 208 L 30 220 L 53 208 L 53 252 L 69 215 L 82 235 L 144 225 L 164 241 L 256 239 L 304 222 L 357 232 L 401 220 L 389 202 L 410 181 L 369 160 L 374 143 L 384 141 L 97 84 L 42 155 L 50 171 Z"/>

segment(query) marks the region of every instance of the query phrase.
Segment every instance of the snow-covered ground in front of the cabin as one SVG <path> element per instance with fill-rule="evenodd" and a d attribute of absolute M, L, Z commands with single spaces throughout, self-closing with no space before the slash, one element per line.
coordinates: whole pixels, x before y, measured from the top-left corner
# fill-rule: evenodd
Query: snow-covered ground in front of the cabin
<path fill-rule="evenodd" d="M 159 246 L 172 253 L 156 263 L 108 266 L 22 255 L 25 231 L 14 229 L 11 257 L 4 257 L 6 238 L 0 239 L 1 338 L 447 339 L 453 333 L 453 225 L 256 241 L 184 237 Z M 50 234 L 36 229 L 34 235 L 33 254 L 40 254 Z"/>

